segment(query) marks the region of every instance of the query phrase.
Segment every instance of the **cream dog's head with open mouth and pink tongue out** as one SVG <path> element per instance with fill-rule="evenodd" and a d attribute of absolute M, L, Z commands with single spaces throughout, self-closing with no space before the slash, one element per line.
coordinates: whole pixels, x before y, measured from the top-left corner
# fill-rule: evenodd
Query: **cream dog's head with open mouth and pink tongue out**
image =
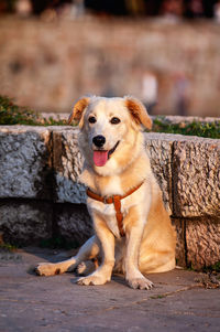
<path fill-rule="evenodd" d="M 69 116 L 80 128 L 79 146 L 86 162 L 100 175 L 120 173 L 143 149 L 141 127 L 152 121 L 133 97 L 79 99 Z"/>

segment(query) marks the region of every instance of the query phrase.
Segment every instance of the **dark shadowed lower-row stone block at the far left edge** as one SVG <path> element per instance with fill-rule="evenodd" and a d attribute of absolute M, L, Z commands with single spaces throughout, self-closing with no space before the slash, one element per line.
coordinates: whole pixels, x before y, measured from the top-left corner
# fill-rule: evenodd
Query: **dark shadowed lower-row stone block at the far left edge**
<path fill-rule="evenodd" d="M 0 216 L 4 242 L 33 245 L 52 236 L 53 207 L 50 203 L 1 201 Z"/>

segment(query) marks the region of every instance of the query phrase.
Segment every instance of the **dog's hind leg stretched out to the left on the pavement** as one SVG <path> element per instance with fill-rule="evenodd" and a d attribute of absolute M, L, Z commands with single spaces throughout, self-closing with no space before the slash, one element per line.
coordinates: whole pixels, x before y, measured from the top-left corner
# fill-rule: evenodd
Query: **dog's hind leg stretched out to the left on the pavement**
<path fill-rule="evenodd" d="M 79 249 L 78 254 L 59 263 L 40 263 L 34 271 L 37 276 L 54 276 L 73 271 L 79 263 L 97 257 L 100 245 L 96 236 L 90 237 Z"/>

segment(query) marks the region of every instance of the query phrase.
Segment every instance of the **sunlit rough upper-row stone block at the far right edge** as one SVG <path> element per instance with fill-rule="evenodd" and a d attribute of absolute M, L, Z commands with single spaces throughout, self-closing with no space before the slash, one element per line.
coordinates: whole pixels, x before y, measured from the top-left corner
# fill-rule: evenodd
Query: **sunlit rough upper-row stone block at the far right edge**
<path fill-rule="evenodd" d="M 191 137 L 173 149 L 174 215 L 220 216 L 220 141 Z"/>

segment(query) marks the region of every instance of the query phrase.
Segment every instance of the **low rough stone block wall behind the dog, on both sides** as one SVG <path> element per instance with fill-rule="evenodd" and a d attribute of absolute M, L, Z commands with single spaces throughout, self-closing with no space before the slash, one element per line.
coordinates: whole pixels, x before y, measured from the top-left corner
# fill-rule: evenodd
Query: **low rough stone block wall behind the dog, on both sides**
<path fill-rule="evenodd" d="M 82 158 L 73 127 L 0 127 L 0 232 L 34 244 L 64 236 L 82 244 L 91 234 Z M 178 264 L 220 260 L 220 141 L 145 133 L 152 169 L 177 229 Z"/>

